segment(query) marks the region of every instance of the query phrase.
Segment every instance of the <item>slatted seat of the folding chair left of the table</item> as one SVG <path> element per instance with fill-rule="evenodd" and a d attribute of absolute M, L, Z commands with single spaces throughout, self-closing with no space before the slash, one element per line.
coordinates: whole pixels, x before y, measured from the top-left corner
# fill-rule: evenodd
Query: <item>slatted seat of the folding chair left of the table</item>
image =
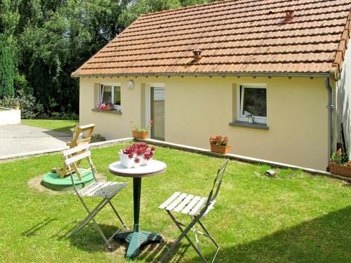
<path fill-rule="evenodd" d="M 126 186 L 127 184 L 124 182 L 94 182 L 79 190 L 79 194 L 81 196 L 112 197 Z"/>

